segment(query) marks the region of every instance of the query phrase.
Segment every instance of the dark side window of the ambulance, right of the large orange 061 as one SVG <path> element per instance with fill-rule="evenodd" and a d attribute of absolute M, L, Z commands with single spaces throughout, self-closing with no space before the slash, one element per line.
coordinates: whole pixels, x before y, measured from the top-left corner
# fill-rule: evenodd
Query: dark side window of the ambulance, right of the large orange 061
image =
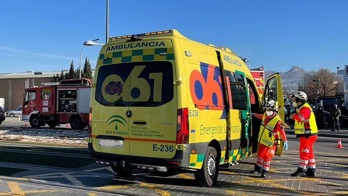
<path fill-rule="evenodd" d="M 244 76 L 227 70 L 225 70 L 225 74 L 230 82 L 232 109 L 247 110 L 248 101 Z"/>

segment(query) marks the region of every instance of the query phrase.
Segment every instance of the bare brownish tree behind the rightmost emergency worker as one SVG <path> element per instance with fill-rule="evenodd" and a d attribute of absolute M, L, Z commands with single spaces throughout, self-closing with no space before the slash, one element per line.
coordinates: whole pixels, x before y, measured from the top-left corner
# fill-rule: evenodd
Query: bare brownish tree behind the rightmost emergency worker
<path fill-rule="evenodd" d="M 311 70 L 305 78 L 304 90 L 309 99 L 315 99 L 316 93 L 319 93 L 319 96 L 333 96 L 341 92 L 340 86 L 343 83 L 341 78 L 329 69 Z"/>

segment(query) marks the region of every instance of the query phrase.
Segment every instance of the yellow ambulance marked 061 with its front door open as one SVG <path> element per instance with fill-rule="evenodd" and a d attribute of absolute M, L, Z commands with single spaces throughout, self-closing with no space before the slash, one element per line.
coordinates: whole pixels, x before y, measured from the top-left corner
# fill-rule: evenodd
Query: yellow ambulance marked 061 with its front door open
<path fill-rule="evenodd" d="M 229 48 L 176 30 L 110 37 L 92 84 L 89 152 L 118 175 L 193 172 L 212 186 L 219 166 L 256 154 L 261 121 L 247 113 L 262 113 L 261 97 L 245 59 Z M 284 119 L 279 74 L 263 98 L 278 101 Z"/>

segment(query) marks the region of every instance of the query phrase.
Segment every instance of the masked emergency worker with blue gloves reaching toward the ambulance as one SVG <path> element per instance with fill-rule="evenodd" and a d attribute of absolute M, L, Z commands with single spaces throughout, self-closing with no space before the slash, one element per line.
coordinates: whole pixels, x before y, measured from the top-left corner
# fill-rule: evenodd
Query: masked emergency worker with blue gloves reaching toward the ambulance
<path fill-rule="evenodd" d="M 258 160 L 251 173 L 261 173 L 261 178 L 266 178 L 271 159 L 279 145 L 280 136 L 284 141 L 285 150 L 288 148 L 284 128 L 289 127 L 277 114 L 278 104 L 274 100 L 263 103 L 262 107 L 266 110 L 264 114 L 248 114 L 262 120 L 258 137 Z"/>

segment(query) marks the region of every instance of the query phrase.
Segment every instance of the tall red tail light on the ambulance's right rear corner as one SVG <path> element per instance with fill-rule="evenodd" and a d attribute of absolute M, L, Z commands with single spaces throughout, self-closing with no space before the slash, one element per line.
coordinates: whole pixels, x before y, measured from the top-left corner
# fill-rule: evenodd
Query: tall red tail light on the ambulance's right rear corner
<path fill-rule="evenodd" d="M 176 129 L 176 143 L 189 143 L 189 109 L 182 108 L 177 110 L 177 129 Z"/>

